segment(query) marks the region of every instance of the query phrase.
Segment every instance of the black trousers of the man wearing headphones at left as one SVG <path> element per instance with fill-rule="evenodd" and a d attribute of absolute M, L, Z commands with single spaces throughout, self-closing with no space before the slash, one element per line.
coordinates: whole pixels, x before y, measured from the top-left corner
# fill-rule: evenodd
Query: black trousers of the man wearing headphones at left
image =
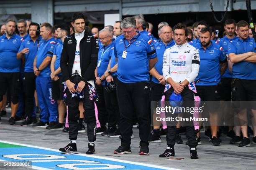
<path fill-rule="evenodd" d="M 36 89 L 36 75 L 34 72 L 24 72 L 25 77 L 25 112 L 32 117 L 34 111 L 34 93 Z"/>

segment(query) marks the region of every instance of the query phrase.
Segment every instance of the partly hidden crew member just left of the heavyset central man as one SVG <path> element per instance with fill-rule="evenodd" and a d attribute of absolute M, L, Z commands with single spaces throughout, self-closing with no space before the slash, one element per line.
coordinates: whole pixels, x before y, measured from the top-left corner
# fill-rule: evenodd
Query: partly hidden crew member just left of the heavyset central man
<path fill-rule="evenodd" d="M 121 22 L 120 21 L 116 21 L 114 24 L 114 30 L 113 30 L 113 35 L 115 37 L 118 37 L 120 35 L 122 35 L 122 30 L 120 27 Z M 106 81 L 108 83 L 110 82 L 114 82 L 115 85 L 117 85 L 118 83 L 118 79 L 117 79 L 117 61 L 115 60 L 115 54 L 114 54 L 114 50 L 111 54 L 111 59 L 110 62 L 108 63 L 108 68 L 105 71 L 104 75 L 106 77 Z M 120 133 L 120 113 L 119 113 L 119 107 L 118 107 L 118 100 L 117 100 L 117 96 L 116 96 L 116 90 L 113 89 L 113 92 L 110 93 L 110 103 L 113 106 L 114 112 L 113 115 L 109 115 L 108 118 L 108 124 L 112 125 L 112 128 L 108 129 L 108 132 L 106 132 L 108 134 L 108 137 L 120 137 L 121 133 Z M 107 105 L 107 103 L 106 103 Z M 116 125 L 118 125 L 118 129 L 116 128 Z"/>

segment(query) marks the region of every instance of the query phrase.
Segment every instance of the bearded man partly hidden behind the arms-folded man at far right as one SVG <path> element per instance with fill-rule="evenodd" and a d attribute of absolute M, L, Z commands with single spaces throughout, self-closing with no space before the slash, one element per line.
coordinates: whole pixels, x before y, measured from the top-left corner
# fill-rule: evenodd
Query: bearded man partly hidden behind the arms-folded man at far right
<path fill-rule="evenodd" d="M 236 40 L 237 37 L 235 35 L 235 29 L 236 29 L 236 21 L 233 19 L 227 19 L 225 21 L 225 26 L 224 26 L 226 35 L 223 38 L 220 38 L 219 40 L 217 40 L 217 43 L 223 47 L 224 52 L 226 53 L 226 55 L 228 55 L 228 44 L 230 43 L 230 41 Z M 228 57 L 227 57 L 228 59 Z M 230 60 L 228 59 L 228 65 L 230 66 L 232 63 L 230 62 Z M 224 72 L 224 74 L 221 76 L 220 78 L 220 85 L 219 85 L 219 95 L 220 95 L 220 100 L 225 100 L 225 101 L 230 101 L 231 100 L 231 81 L 232 81 L 232 72 L 230 72 L 229 68 L 227 68 Z M 226 102 L 224 102 L 223 104 L 225 104 Z M 223 105 L 223 107 L 228 107 L 229 108 L 230 105 Z M 229 109 L 230 110 L 230 109 Z M 230 110 L 231 112 L 231 110 Z M 228 112 L 228 114 L 230 114 L 230 112 Z M 225 116 L 226 115 L 226 109 L 223 109 L 223 114 L 224 117 L 228 117 Z M 225 121 L 225 120 L 224 120 Z M 240 138 L 240 127 L 238 127 L 238 130 L 236 130 L 236 126 L 235 126 L 235 131 L 236 134 L 233 131 L 233 126 L 229 126 L 229 130 L 227 133 L 227 136 L 230 138 L 233 138 L 232 140 L 230 140 L 230 143 L 237 143 L 239 141 L 241 141 Z M 236 137 L 235 137 L 236 135 Z"/>

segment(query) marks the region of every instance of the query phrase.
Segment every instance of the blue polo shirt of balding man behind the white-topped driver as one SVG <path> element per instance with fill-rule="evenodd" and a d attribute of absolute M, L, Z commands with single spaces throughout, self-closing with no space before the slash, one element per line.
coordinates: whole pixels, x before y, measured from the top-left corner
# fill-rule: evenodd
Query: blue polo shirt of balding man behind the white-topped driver
<path fill-rule="evenodd" d="M 157 54 L 157 62 L 155 65 L 156 71 L 160 74 L 163 75 L 163 59 L 164 59 L 164 51 L 167 48 L 170 48 L 175 45 L 175 41 L 172 40 L 169 42 L 169 44 L 165 45 L 164 42 L 159 42 L 156 45 L 156 54 Z M 159 83 L 159 80 L 156 79 L 156 77 L 152 77 L 152 82 Z"/>

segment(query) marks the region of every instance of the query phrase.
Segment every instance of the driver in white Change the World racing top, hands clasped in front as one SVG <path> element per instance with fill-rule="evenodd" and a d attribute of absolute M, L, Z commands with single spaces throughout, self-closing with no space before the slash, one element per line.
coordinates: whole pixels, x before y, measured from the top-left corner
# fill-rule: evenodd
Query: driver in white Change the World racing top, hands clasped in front
<path fill-rule="evenodd" d="M 166 83 L 171 85 L 169 90 L 166 91 L 165 100 L 169 101 L 170 96 L 174 92 L 182 96 L 182 107 L 192 108 L 195 106 L 194 97 L 196 89 L 194 80 L 199 72 L 200 57 L 198 50 L 186 42 L 186 25 L 179 23 L 175 25 L 173 29 L 175 45 L 165 50 L 163 60 L 163 75 Z M 192 116 L 190 112 L 182 112 L 182 114 L 185 117 Z M 178 115 L 176 114 L 175 116 Z M 177 122 L 175 119 L 171 123 L 167 123 L 167 149 L 164 151 L 163 154 L 159 155 L 160 158 L 175 155 L 174 145 L 176 123 Z M 184 125 L 187 129 L 188 145 L 190 147 L 190 158 L 197 159 L 197 135 L 193 123 L 191 121 L 188 121 Z"/>

